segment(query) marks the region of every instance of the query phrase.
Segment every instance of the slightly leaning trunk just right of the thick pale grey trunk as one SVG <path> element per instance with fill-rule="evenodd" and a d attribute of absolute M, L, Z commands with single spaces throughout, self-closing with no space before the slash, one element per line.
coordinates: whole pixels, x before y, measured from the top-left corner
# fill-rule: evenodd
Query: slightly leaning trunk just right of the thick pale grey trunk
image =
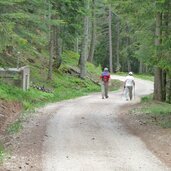
<path fill-rule="evenodd" d="M 91 43 L 90 51 L 87 61 L 92 62 L 94 57 L 94 50 L 96 44 L 96 16 L 95 16 L 95 0 L 92 0 L 92 32 L 91 32 Z"/>

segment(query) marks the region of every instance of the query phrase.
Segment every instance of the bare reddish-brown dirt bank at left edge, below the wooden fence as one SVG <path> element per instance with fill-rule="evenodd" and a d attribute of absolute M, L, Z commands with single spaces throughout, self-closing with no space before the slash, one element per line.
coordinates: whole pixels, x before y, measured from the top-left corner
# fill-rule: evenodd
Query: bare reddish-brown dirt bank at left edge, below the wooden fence
<path fill-rule="evenodd" d="M 18 102 L 0 100 L 0 133 L 3 134 L 8 124 L 15 121 L 22 110 L 22 105 Z"/>

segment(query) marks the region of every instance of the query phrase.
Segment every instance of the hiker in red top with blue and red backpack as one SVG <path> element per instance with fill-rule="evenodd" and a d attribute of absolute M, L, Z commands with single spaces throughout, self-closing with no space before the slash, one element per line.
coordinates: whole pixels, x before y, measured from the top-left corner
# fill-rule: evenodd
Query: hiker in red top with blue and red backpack
<path fill-rule="evenodd" d="M 104 71 L 102 72 L 101 76 L 101 88 L 102 88 L 102 99 L 104 97 L 108 98 L 108 87 L 109 87 L 109 79 L 110 79 L 110 73 L 108 71 L 108 68 L 104 68 Z"/>

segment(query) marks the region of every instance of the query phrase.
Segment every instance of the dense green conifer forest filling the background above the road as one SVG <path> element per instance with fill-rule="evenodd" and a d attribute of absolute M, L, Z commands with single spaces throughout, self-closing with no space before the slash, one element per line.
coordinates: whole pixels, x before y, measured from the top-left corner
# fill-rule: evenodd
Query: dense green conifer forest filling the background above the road
<path fill-rule="evenodd" d="M 34 64 L 48 81 L 76 53 L 82 79 L 87 63 L 154 74 L 154 99 L 171 103 L 170 9 L 170 0 L 0 0 L 0 67 Z"/>

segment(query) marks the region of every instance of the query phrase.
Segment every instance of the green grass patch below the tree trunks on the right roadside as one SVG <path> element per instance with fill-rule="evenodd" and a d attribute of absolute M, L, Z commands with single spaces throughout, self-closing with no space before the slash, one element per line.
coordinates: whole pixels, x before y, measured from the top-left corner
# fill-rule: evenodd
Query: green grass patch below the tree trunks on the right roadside
<path fill-rule="evenodd" d="M 143 114 L 149 117 L 149 123 L 155 123 L 163 128 L 171 128 L 171 105 L 152 100 L 152 95 L 142 98 Z"/>

